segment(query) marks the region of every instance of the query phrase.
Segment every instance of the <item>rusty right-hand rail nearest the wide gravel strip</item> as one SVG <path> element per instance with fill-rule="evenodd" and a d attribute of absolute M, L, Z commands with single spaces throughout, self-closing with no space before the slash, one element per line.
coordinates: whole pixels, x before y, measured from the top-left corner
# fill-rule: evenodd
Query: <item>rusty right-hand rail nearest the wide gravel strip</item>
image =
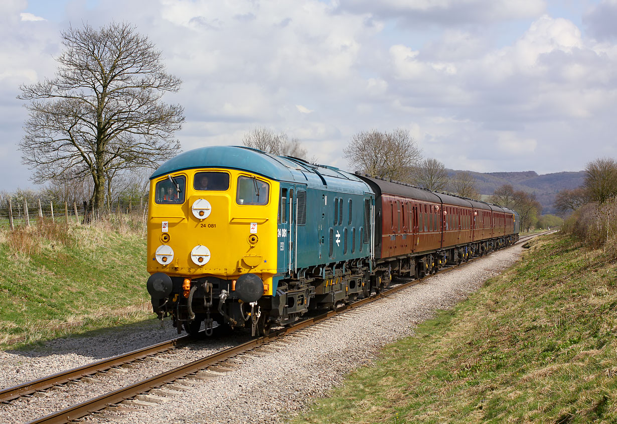
<path fill-rule="evenodd" d="M 552 231 L 550 231 L 552 232 Z M 544 235 L 549 233 L 549 231 L 545 231 L 544 233 L 539 233 L 535 235 L 528 236 L 527 238 L 533 238 L 535 236 Z M 525 238 L 526 239 L 526 238 Z M 520 239 L 516 243 L 511 246 L 515 246 L 516 244 L 522 243 L 523 240 Z M 506 246 L 511 247 L 511 246 Z M 501 250 L 501 249 L 500 249 Z M 475 257 L 473 259 L 468 260 L 467 262 L 462 262 L 459 265 L 468 264 L 470 262 L 474 262 L 475 260 L 481 259 L 481 257 Z M 184 376 L 188 376 L 194 373 L 197 373 L 210 365 L 217 364 L 218 362 L 222 362 L 223 360 L 230 359 L 238 354 L 251 351 L 251 349 L 255 349 L 255 347 L 262 346 L 263 344 L 270 343 L 273 339 L 281 338 L 284 335 L 289 335 L 294 333 L 295 331 L 299 331 L 302 328 L 307 326 L 311 326 L 315 323 L 321 322 L 327 318 L 331 318 L 334 315 L 341 314 L 346 310 L 354 309 L 359 306 L 363 306 L 368 302 L 375 301 L 376 299 L 381 299 L 382 297 L 389 296 L 390 294 L 396 293 L 402 289 L 408 288 L 413 285 L 417 285 L 422 283 L 424 279 L 429 276 L 436 275 L 437 273 L 449 272 L 450 270 L 458 269 L 457 265 L 450 265 L 450 267 L 443 268 L 437 271 L 434 274 L 426 275 L 423 278 L 413 281 L 407 281 L 393 288 L 386 289 L 381 291 L 381 293 L 372 294 L 369 297 L 365 297 L 358 301 L 353 302 L 352 304 L 344 305 L 338 307 L 336 310 L 329 311 L 315 317 L 307 318 L 302 322 L 296 323 L 289 327 L 281 328 L 280 330 L 273 331 L 270 335 L 262 336 L 260 338 L 247 341 L 246 343 L 239 344 L 238 346 L 229 347 L 223 351 L 217 352 L 215 354 L 209 355 L 202 359 L 195 360 L 194 362 L 190 362 L 189 364 L 182 365 L 181 367 L 174 368 L 173 370 L 160 373 L 159 375 L 152 376 L 151 378 L 147 378 L 143 381 L 138 381 L 137 383 L 133 383 L 132 385 L 126 386 L 124 388 L 117 389 L 107 394 L 103 394 L 101 396 L 95 397 L 94 399 L 90 399 L 89 401 L 82 402 L 77 405 L 73 405 L 72 407 L 68 407 L 66 409 L 60 410 L 53 414 L 46 415 L 45 417 L 38 418 L 37 420 L 33 420 L 28 424 L 65 424 L 72 422 L 73 420 L 77 420 L 78 418 L 85 417 L 86 415 L 92 414 L 93 412 L 100 411 L 107 407 L 118 404 L 122 401 L 126 401 L 126 399 L 131 399 L 132 397 L 137 396 L 138 394 L 146 393 L 151 389 L 163 386 L 167 383 L 171 383 L 172 381 L 176 381 Z"/>

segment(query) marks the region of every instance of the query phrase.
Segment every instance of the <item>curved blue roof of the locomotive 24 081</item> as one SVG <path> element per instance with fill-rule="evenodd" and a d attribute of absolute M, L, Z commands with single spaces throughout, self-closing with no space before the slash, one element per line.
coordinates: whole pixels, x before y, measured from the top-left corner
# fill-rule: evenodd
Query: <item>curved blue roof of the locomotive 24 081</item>
<path fill-rule="evenodd" d="M 276 181 L 306 184 L 310 188 L 372 193 L 365 181 L 348 172 L 244 146 L 210 146 L 183 152 L 160 165 L 150 179 L 181 170 L 211 167 L 246 170 Z"/>

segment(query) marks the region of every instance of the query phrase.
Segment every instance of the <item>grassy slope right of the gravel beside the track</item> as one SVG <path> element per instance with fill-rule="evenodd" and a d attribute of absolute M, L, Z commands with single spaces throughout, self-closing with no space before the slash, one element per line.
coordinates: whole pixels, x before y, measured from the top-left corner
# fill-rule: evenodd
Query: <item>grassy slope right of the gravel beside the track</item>
<path fill-rule="evenodd" d="M 547 236 L 294 422 L 617 422 L 616 335 L 615 259 Z"/>

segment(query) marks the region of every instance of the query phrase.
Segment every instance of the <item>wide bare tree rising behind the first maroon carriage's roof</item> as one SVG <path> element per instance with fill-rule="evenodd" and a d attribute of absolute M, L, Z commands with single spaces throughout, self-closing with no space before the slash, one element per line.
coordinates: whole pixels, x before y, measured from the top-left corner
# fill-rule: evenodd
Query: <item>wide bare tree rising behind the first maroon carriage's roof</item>
<path fill-rule="evenodd" d="M 355 170 L 370 177 L 411 181 L 410 170 L 421 159 L 421 151 L 409 131 L 397 128 L 391 133 L 377 130 L 354 134 L 343 150 Z"/>

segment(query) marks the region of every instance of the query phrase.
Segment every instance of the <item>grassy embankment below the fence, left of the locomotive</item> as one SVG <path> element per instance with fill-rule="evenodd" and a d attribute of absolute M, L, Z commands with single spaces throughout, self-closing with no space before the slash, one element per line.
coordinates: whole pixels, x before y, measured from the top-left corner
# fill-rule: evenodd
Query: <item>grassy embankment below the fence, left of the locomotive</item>
<path fill-rule="evenodd" d="M 126 217 L 0 231 L 0 348 L 152 317 L 145 254 Z"/>

